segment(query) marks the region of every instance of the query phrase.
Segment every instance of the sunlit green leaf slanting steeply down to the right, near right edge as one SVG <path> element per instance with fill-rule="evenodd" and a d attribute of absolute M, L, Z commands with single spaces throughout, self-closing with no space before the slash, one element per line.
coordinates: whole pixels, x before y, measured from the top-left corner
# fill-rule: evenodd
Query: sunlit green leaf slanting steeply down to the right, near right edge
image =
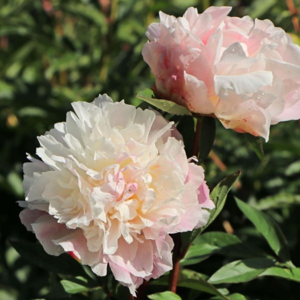
<path fill-rule="evenodd" d="M 256 229 L 266 239 L 271 249 L 277 254 L 282 262 L 290 262 L 287 241 L 275 221 L 267 214 L 235 198 L 236 204 L 245 216 L 254 224 Z"/>

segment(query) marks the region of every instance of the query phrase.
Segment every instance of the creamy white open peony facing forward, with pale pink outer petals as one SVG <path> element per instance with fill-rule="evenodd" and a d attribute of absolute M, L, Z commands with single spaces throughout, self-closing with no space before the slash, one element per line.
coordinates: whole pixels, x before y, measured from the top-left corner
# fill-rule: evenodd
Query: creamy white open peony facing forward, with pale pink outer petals
<path fill-rule="evenodd" d="M 71 251 L 99 276 L 109 264 L 134 295 L 172 268 L 169 233 L 207 222 L 203 169 L 160 114 L 106 94 L 72 106 L 24 163 L 20 219 L 47 253 Z"/>

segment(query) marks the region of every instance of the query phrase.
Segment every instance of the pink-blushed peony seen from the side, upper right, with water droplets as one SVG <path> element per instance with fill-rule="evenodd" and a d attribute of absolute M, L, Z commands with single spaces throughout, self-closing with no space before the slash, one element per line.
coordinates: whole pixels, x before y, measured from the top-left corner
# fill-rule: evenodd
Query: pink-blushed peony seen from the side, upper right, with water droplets
<path fill-rule="evenodd" d="M 230 9 L 160 12 L 142 55 L 161 96 L 267 141 L 270 124 L 300 118 L 300 47 L 270 20 Z"/>

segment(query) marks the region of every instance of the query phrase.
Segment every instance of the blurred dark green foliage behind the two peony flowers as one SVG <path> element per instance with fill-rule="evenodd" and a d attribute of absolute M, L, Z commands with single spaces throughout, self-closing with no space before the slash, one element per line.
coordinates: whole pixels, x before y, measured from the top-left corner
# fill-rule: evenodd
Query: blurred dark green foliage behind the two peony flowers
<path fill-rule="evenodd" d="M 294 3 L 300 7 L 300 0 Z M 189 6 L 201 12 L 210 5 L 233 6 L 231 16 L 269 18 L 299 42 L 284 0 L 0 0 L 0 299 L 43 298 L 58 280 L 56 274 L 21 258 L 9 243 L 35 240 L 19 221 L 16 201 L 23 199 L 22 163 L 25 152 L 35 153 L 36 136 L 63 121 L 72 101 L 91 101 L 98 93 L 138 105 L 141 101 L 135 93 L 154 82 L 141 56 L 147 25 L 158 20 L 159 10 L 180 16 Z M 279 223 L 292 261 L 300 266 L 299 122 L 272 126 L 269 142 L 263 143 L 263 161 L 245 135 L 220 124 L 216 132 L 213 152 L 224 166 L 220 169 L 211 155 L 205 159 L 208 185 L 212 188 L 240 169 L 233 194 Z M 242 240 L 268 251 L 238 210 L 232 193 L 208 230 L 224 231 L 225 226 L 230 231 L 228 224 Z M 211 275 L 229 261 L 227 256 L 213 255 L 195 270 Z M 274 278 L 235 284 L 230 291 L 249 299 L 298 299 L 300 295 L 298 283 Z M 180 292 L 184 294 L 184 289 Z M 96 292 L 85 296 L 100 298 Z M 209 297 L 194 296 L 189 298 Z"/>

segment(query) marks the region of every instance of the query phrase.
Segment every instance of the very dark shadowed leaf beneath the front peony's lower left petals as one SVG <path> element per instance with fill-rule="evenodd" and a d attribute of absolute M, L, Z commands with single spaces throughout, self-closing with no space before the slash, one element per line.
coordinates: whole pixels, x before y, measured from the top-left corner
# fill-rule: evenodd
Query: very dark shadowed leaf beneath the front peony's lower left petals
<path fill-rule="evenodd" d="M 81 264 L 66 253 L 59 256 L 49 255 L 40 244 L 25 240 L 10 240 L 10 244 L 24 259 L 49 272 L 87 277 Z"/>

